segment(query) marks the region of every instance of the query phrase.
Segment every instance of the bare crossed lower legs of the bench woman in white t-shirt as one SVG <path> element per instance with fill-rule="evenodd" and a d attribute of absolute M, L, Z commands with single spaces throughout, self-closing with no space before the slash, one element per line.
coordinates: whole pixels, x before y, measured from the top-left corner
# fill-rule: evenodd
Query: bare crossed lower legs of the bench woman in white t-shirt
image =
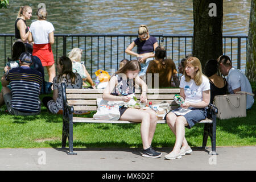
<path fill-rule="evenodd" d="M 174 113 L 167 114 L 166 120 L 168 126 L 176 136 L 174 150 L 172 150 L 170 154 L 172 152 L 179 154 L 181 146 L 184 149 L 189 148 L 188 142 L 185 139 L 185 126 L 188 125 L 187 120 L 182 115 L 177 117 Z"/>

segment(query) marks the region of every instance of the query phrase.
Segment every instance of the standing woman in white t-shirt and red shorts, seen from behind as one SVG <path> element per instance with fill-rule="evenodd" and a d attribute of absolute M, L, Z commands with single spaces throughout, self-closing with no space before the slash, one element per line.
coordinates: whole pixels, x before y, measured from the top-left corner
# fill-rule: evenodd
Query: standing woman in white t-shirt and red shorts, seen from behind
<path fill-rule="evenodd" d="M 47 11 L 45 8 L 40 7 L 38 12 L 38 20 L 32 22 L 30 25 L 30 34 L 28 35 L 28 41 L 33 42 L 33 56 L 38 56 L 42 62 L 43 67 L 46 67 L 49 82 L 53 81 L 56 76 L 54 57 L 51 45 L 54 43 L 55 30 L 52 23 L 46 20 Z"/>

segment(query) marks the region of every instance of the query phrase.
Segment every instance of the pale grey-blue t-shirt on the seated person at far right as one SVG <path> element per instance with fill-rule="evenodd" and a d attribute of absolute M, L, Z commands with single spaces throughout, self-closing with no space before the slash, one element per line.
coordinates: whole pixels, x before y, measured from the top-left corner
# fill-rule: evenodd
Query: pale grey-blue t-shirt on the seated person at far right
<path fill-rule="evenodd" d="M 243 91 L 243 92 L 253 93 L 249 80 L 247 79 L 245 74 L 243 74 L 240 71 L 240 69 L 231 68 L 229 70 L 229 74 L 228 74 L 226 81 L 228 82 L 228 92 L 230 94 L 234 93 L 233 92 L 234 89 L 237 89 L 240 87 L 241 87 L 241 91 Z M 253 105 L 253 103 L 254 103 L 253 96 L 247 95 L 246 96 L 246 109 L 249 109 Z"/>

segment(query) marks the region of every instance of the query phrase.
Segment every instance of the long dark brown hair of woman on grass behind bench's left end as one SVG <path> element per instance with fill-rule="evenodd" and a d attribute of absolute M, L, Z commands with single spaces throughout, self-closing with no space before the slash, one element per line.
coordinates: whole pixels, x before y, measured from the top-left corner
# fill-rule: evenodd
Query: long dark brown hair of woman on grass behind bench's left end
<path fill-rule="evenodd" d="M 66 80 L 68 80 L 68 76 L 72 82 L 72 84 L 75 84 L 77 77 L 76 74 L 72 71 L 72 61 L 69 59 L 69 57 L 61 56 L 59 58 L 59 64 L 63 65 L 63 69 L 59 75 L 57 75 L 57 80 L 60 82 L 63 78 L 63 75 L 65 75 Z"/>

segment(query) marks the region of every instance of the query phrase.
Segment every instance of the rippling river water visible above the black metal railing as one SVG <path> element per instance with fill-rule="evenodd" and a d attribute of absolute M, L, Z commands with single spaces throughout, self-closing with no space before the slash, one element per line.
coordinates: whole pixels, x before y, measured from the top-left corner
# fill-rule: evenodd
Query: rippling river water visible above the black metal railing
<path fill-rule="evenodd" d="M 0 34 L 14 34 L 14 22 L 22 5 L 31 6 L 31 20 L 36 19 L 36 9 L 41 2 L 46 4 L 47 20 L 53 23 L 55 34 L 136 34 L 140 24 L 146 24 L 151 34 L 193 34 L 192 0 L 10 0 L 8 9 L 0 10 Z M 224 35 L 248 34 L 250 2 L 224 0 Z M 27 21 L 28 26 L 31 20 Z M 0 41 L 2 49 L 3 39 Z M 3 61 L 1 55 L 1 67 Z M 245 49 L 242 49 L 241 64 L 244 71 Z"/>

